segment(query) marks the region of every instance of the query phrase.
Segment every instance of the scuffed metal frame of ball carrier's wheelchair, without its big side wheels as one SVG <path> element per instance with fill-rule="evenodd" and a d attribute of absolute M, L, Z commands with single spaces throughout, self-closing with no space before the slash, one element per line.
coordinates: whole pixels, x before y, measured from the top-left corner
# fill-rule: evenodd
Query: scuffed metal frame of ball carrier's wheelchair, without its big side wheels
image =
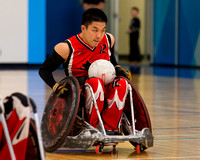
<path fill-rule="evenodd" d="M 67 78 L 66 78 L 67 79 Z M 63 81 L 63 80 L 62 80 Z M 128 81 L 128 80 L 127 80 Z M 128 81 L 129 82 L 129 81 Z M 96 99 L 94 97 L 93 89 L 90 85 L 85 85 L 88 87 L 92 93 L 93 103 L 95 105 L 95 109 L 97 111 L 97 115 L 99 118 L 99 126 L 94 128 L 89 123 L 84 120 L 84 115 L 82 112 L 82 117 L 76 115 L 76 120 L 74 122 L 74 126 L 71 129 L 76 130 L 76 127 L 80 127 L 78 134 L 75 135 L 67 135 L 63 141 L 63 143 L 58 148 L 70 148 L 70 149 L 88 149 L 92 146 L 96 146 L 96 153 L 101 154 L 103 152 L 104 146 L 113 146 L 113 149 L 116 149 L 116 145 L 120 142 L 130 141 L 135 146 L 137 153 L 140 153 L 141 150 L 145 150 L 149 147 L 153 146 L 153 135 L 150 128 L 143 128 L 141 131 L 135 129 L 135 118 L 134 118 L 134 101 L 132 95 L 132 87 L 128 85 L 129 88 L 129 96 L 130 96 L 130 105 L 131 105 L 131 122 L 127 118 L 126 114 L 123 113 L 123 121 L 126 125 L 124 127 L 126 129 L 126 134 L 128 135 L 107 135 L 105 132 L 105 128 L 103 125 L 103 121 L 96 103 Z M 139 94 L 139 93 L 138 93 Z M 46 106 L 47 107 L 47 106 Z M 147 111 L 146 111 L 147 112 Z M 147 115 L 148 116 L 148 115 Z M 131 125 L 133 124 L 133 125 Z M 43 137 L 44 138 L 44 137 Z M 44 146 L 45 147 L 45 146 Z M 55 151 L 49 150 L 49 148 L 45 147 L 47 151 Z"/>

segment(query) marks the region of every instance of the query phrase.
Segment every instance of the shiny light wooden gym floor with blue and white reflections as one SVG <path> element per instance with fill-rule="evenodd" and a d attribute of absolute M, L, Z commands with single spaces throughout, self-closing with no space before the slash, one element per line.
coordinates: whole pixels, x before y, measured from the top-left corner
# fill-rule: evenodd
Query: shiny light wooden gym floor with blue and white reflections
<path fill-rule="evenodd" d="M 121 143 L 114 154 L 105 147 L 102 155 L 89 150 L 65 150 L 46 153 L 47 160 L 153 160 L 200 159 L 200 71 L 142 67 L 133 75 L 133 84 L 142 95 L 150 114 L 155 137 L 154 147 L 136 154 L 131 144 Z M 56 71 L 56 79 L 64 77 Z M 0 70 L 0 95 L 13 92 L 29 95 L 38 107 L 41 120 L 51 90 L 39 78 L 37 70 Z"/>

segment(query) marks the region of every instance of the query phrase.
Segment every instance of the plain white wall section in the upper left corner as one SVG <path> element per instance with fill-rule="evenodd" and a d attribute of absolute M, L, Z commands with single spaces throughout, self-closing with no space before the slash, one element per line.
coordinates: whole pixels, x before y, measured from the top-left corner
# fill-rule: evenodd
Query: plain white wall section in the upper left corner
<path fill-rule="evenodd" d="M 28 0 L 0 1 L 0 63 L 27 63 Z"/>

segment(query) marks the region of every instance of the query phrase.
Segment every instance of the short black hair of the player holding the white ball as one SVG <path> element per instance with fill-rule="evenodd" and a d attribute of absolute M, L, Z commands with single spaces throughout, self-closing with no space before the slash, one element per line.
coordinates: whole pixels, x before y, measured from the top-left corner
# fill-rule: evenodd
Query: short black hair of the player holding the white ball
<path fill-rule="evenodd" d="M 105 22 L 107 23 L 107 16 L 106 14 L 97 8 L 91 8 L 86 10 L 82 16 L 82 25 L 88 27 L 93 21 L 95 22 Z"/>

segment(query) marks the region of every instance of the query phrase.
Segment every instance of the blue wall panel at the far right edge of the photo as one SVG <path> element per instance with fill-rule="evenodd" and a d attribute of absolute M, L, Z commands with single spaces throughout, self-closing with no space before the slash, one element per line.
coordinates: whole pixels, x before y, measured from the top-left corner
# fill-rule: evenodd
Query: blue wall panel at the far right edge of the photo
<path fill-rule="evenodd" d="M 179 2 L 179 64 L 200 65 L 200 1 Z"/>

